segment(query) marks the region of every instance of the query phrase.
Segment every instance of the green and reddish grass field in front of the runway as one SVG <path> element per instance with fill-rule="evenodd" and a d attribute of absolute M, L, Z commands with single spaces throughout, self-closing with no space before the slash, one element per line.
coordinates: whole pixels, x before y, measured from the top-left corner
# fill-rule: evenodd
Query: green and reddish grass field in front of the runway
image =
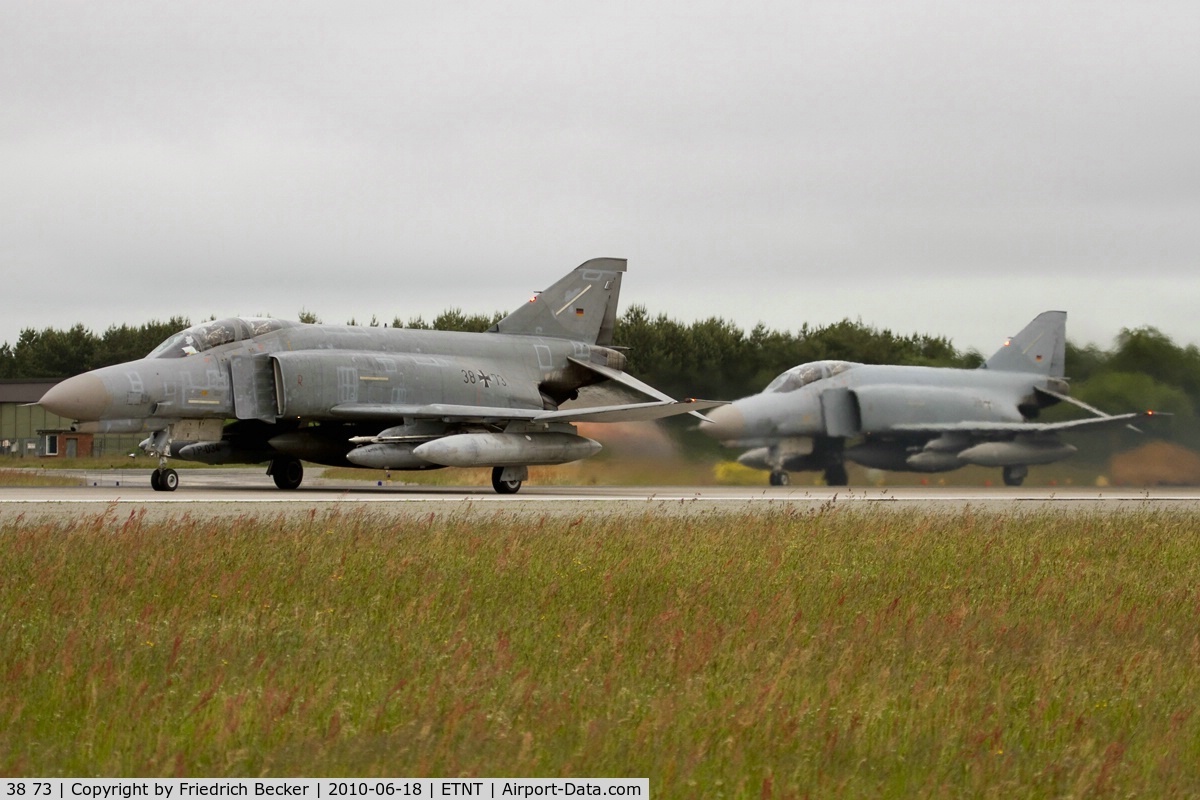
<path fill-rule="evenodd" d="M 0 527 L 0 771 L 1200 794 L 1200 516 Z"/>

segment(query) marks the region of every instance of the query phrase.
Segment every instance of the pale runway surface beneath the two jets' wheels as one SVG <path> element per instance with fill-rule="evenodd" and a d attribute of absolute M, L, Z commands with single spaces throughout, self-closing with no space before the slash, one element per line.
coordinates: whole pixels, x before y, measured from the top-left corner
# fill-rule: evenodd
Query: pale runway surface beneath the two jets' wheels
<path fill-rule="evenodd" d="M 83 487 L 0 487 L 0 522 L 71 515 L 144 513 L 150 518 L 188 516 L 293 516 L 318 512 L 455 512 L 494 515 L 712 513 L 770 509 L 893 509 L 959 512 L 1013 511 L 1200 511 L 1195 488 L 1094 487 L 733 487 L 733 486 L 538 486 L 516 495 L 491 487 L 430 487 L 401 482 L 307 479 L 294 492 L 275 488 L 258 469 L 190 469 L 175 492 L 150 488 L 148 470 L 76 473 Z"/>

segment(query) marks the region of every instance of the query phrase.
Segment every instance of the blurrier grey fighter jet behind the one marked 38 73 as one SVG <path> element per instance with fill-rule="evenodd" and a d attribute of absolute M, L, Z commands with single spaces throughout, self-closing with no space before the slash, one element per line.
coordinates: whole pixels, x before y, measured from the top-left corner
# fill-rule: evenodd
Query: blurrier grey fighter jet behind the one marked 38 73
<path fill-rule="evenodd" d="M 701 429 L 731 447 L 738 461 L 770 470 L 823 470 L 829 486 L 847 482 L 845 462 L 863 467 L 942 473 L 978 464 L 1001 467 L 1020 486 L 1031 464 L 1067 458 L 1075 447 L 1064 431 L 1128 425 L 1145 414 L 1110 416 L 1072 399 L 1064 379 L 1067 313 L 1039 314 L 978 369 L 816 361 L 793 367 L 761 393 L 714 409 Z M 1034 422 L 1058 402 L 1093 416 Z"/>

